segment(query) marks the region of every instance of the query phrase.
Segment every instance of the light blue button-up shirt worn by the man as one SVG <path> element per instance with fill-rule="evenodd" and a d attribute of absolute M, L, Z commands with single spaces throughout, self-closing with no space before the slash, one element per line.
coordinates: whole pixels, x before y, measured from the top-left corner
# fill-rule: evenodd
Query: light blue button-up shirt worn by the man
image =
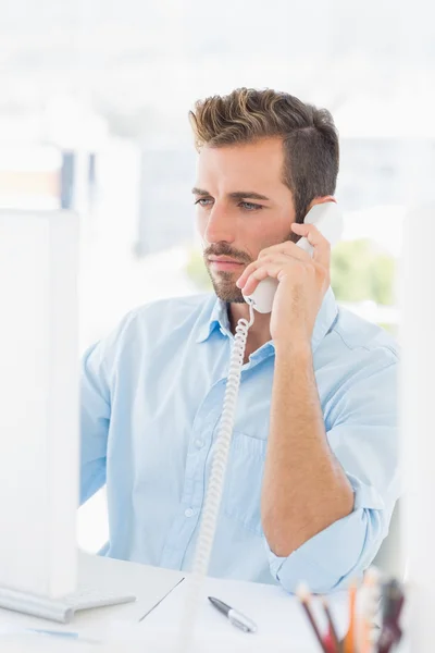
<path fill-rule="evenodd" d="M 107 555 L 190 569 L 232 343 L 226 305 L 202 295 L 135 309 L 85 354 L 82 502 L 107 483 Z M 361 575 L 387 533 L 399 492 L 395 341 L 338 308 L 330 288 L 312 352 L 327 439 L 353 486 L 355 509 L 287 558 L 268 545 L 260 496 L 271 341 L 243 368 L 212 576 L 288 591 L 304 579 L 327 592 Z"/>

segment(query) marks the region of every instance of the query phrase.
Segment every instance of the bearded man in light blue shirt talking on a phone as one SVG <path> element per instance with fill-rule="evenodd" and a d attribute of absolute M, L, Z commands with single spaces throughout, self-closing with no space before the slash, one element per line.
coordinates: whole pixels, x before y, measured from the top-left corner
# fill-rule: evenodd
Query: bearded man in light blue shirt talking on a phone
<path fill-rule="evenodd" d="M 190 568 L 241 289 L 276 278 L 247 340 L 210 574 L 327 592 L 370 565 L 398 494 L 396 346 L 337 308 L 330 245 L 303 224 L 334 201 L 336 130 L 325 110 L 245 88 L 190 120 L 217 298 L 134 310 L 87 352 L 82 501 L 107 483 L 108 555 Z"/>

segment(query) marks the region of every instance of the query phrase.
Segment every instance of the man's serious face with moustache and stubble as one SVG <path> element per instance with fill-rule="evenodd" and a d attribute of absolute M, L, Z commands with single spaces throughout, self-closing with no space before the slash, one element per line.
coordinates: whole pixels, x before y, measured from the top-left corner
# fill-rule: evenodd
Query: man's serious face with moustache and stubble
<path fill-rule="evenodd" d="M 295 208 L 283 183 L 281 138 L 203 147 L 194 195 L 203 257 L 224 301 L 244 301 L 236 281 L 265 247 L 290 236 Z"/>

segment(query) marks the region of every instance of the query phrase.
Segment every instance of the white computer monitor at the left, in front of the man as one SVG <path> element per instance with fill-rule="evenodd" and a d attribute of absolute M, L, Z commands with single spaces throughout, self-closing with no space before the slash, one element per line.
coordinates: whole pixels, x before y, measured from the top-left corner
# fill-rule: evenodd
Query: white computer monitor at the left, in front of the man
<path fill-rule="evenodd" d="M 78 217 L 0 211 L 0 587 L 73 592 Z"/>

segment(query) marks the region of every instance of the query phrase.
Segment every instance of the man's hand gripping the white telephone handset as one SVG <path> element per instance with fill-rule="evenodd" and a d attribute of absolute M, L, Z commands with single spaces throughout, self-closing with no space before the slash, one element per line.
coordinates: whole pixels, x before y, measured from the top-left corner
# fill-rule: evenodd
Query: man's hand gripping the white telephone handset
<path fill-rule="evenodd" d="M 313 224 L 294 223 L 295 234 L 308 238 L 312 257 L 286 242 L 263 249 L 237 281 L 245 295 L 253 293 L 266 276 L 279 284 L 271 316 L 271 336 L 275 343 L 311 343 L 315 318 L 330 285 L 331 245 Z"/>

